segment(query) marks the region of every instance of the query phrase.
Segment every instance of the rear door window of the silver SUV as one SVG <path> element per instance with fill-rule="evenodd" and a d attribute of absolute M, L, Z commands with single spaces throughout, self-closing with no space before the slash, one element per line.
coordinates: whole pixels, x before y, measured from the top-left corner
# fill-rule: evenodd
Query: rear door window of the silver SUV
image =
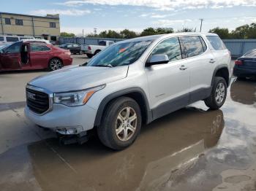
<path fill-rule="evenodd" d="M 200 55 L 204 52 L 199 36 L 181 36 L 179 38 L 183 42 L 186 58 Z"/>

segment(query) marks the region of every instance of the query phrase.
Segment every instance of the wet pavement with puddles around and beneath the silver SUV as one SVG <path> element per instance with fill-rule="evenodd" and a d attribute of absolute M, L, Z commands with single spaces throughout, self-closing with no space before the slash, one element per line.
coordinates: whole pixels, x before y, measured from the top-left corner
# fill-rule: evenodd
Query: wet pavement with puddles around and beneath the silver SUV
<path fill-rule="evenodd" d="M 256 81 L 235 80 L 219 110 L 200 101 L 143 126 L 120 152 L 97 136 L 61 146 L 23 104 L 0 99 L 0 190 L 256 190 Z"/>

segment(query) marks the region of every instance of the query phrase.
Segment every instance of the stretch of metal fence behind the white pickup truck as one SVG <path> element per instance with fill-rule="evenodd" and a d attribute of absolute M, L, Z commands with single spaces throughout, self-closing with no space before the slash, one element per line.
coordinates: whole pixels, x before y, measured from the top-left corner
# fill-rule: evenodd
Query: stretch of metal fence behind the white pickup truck
<path fill-rule="evenodd" d="M 111 38 L 83 38 L 83 37 L 59 37 L 59 44 L 76 43 L 76 44 L 89 44 L 98 45 L 99 41 L 110 40 L 113 42 L 119 42 L 125 39 L 111 39 Z"/>

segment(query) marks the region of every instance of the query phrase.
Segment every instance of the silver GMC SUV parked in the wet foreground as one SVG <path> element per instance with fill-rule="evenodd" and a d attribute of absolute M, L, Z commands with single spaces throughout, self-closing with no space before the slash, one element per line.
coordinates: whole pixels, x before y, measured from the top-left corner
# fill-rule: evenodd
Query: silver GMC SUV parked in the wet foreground
<path fill-rule="evenodd" d="M 37 125 L 76 141 L 96 128 L 103 144 L 124 149 L 135 141 L 141 124 L 195 101 L 219 109 L 230 85 L 230 61 L 217 34 L 125 40 L 87 64 L 31 80 L 25 114 Z"/>

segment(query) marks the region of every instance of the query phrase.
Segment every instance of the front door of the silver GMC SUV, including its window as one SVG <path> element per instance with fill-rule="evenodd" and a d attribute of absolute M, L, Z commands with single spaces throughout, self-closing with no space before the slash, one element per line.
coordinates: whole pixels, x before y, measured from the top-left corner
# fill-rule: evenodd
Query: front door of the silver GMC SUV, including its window
<path fill-rule="evenodd" d="M 151 55 L 167 55 L 169 63 L 146 67 L 153 118 L 189 104 L 189 69 L 182 60 L 178 37 L 163 40 Z"/>

